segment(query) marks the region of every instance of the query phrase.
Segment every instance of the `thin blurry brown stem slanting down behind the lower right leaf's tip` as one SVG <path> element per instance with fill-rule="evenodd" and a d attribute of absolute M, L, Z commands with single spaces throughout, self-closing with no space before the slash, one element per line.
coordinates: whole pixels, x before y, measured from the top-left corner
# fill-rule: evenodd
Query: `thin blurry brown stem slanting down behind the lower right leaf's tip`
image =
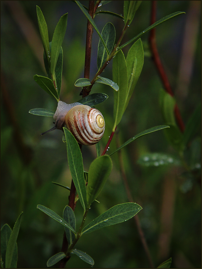
<path fill-rule="evenodd" d="M 117 148 L 119 148 L 120 145 L 121 144 L 120 144 L 120 141 L 119 141 L 119 135 L 116 134 L 116 146 L 117 146 Z M 125 186 L 125 190 L 126 190 L 126 194 L 127 194 L 127 197 L 128 197 L 128 201 L 130 203 L 134 203 L 133 197 L 132 197 L 131 192 L 130 192 L 130 187 L 129 187 L 129 184 L 128 184 L 128 179 L 127 179 L 127 176 L 125 174 L 125 169 L 124 169 L 124 164 L 123 164 L 123 159 L 122 159 L 122 153 L 121 152 L 122 151 L 119 150 L 118 156 L 119 156 L 119 167 L 120 167 L 120 171 L 121 171 L 123 183 L 124 183 L 124 186 Z M 139 233 L 139 236 L 140 236 L 140 240 L 142 242 L 142 245 L 143 245 L 145 254 L 147 256 L 147 259 L 148 259 L 150 268 L 154 268 L 153 261 L 152 261 L 152 258 L 151 258 L 151 254 L 150 254 L 150 251 L 149 251 L 149 248 L 148 248 L 148 245 L 147 245 L 145 236 L 144 236 L 144 232 L 143 232 L 143 230 L 141 228 L 139 217 L 137 215 L 135 215 L 133 217 L 133 219 L 135 220 L 135 223 L 136 223 L 136 226 L 137 226 L 137 230 L 138 230 L 138 233 Z"/>

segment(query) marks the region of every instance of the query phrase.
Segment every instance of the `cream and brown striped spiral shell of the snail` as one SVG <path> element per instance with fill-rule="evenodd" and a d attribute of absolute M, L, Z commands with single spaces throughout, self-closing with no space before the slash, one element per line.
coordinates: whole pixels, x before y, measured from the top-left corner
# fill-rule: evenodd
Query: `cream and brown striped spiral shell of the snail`
<path fill-rule="evenodd" d="M 76 105 L 65 117 L 67 128 L 77 142 L 93 145 L 100 141 L 105 130 L 105 121 L 99 110 L 88 105 Z"/>

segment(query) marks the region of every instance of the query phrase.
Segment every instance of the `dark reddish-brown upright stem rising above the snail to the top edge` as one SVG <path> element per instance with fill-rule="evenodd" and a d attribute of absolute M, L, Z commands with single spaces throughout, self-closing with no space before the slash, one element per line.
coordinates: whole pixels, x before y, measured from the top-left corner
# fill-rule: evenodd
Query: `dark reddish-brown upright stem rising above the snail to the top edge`
<path fill-rule="evenodd" d="M 88 13 L 93 19 L 94 1 L 89 1 Z M 85 54 L 85 64 L 84 64 L 84 77 L 88 79 L 90 77 L 92 37 L 93 37 L 93 26 L 90 23 L 90 21 L 88 21 L 87 30 L 86 30 L 86 54 Z M 81 93 L 82 93 L 82 97 L 86 97 L 89 94 L 87 87 L 84 87 Z"/>

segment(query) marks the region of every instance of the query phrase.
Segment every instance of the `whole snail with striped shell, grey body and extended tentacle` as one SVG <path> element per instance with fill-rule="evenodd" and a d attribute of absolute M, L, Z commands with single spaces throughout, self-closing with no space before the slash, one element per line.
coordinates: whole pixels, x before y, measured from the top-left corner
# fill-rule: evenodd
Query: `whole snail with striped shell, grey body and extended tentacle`
<path fill-rule="evenodd" d="M 105 120 L 102 113 L 88 105 L 59 101 L 53 118 L 55 126 L 41 135 L 55 129 L 63 130 L 66 124 L 78 143 L 90 146 L 99 142 L 104 134 Z"/>

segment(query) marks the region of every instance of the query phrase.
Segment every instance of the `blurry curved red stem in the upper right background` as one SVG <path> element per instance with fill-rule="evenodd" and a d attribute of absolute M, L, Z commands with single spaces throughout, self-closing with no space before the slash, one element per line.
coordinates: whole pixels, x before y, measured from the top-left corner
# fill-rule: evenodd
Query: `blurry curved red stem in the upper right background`
<path fill-rule="evenodd" d="M 156 22 L 156 5 L 157 5 L 157 1 L 153 0 L 153 1 L 151 1 L 151 3 L 152 3 L 152 8 L 151 8 L 151 25 L 152 25 L 152 24 L 154 24 Z M 151 52 L 152 52 L 152 57 L 153 57 L 155 65 L 156 65 L 156 68 L 157 68 L 157 70 L 159 72 L 159 76 L 161 77 L 161 80 L 162 80 L 162 83 L 164 85 L 164 88 L 171 96 L 174 96 L 172 88 L 171 88 L 169 80 L 168 80 L 168 77 L 167 77 L 167 74 L 166 74 L 166 72 L 164 70 L 164 67 L 163 67 L 162 63 L 161 63 L 161 59 L 159 57 L 159 53 L 158 53 L 158 50 L 157 50 L 157 46 L 156 46 L 156 28 L 153 28 L 151 30 L 150 37 L 149 37 L 149 43 L 150 43 L 150 48 L 151 48 Z M 183 133 L 184 128 L 185 128 L 184 127 L 184 122 L 182 120 L 181 113 L 179 111 L 179 108 L 178 108 L 177 104 L 175 105 L 174 113 L 175 113 L 175 118 L 177 120 L 178 126 L 179 126 L 181 132 Z"/>

